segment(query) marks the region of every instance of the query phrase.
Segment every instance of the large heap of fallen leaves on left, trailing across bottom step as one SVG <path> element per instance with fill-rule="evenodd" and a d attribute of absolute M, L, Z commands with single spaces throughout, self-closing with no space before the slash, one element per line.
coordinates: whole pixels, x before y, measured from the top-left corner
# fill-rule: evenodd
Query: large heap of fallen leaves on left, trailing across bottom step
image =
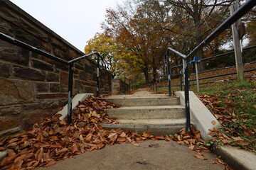
<path fill-rule="evenodd" d="M 86 151 L 102 149 L 106 145 L 132 143 L 139 146 L 145 140 L 174 140 L 180 145 L 187 145 L 197 151 L 198 159 L 206 159 L 200 152 L 209 152 L 200 132 L 181 130 L 177 135 L 164 137 L 153 136 L 149 132 L 143 135 L 130 130 L 106 130 L 100 123 L 117 123 L 106 115 L 102 109 L 117 108 L 112 103 L 96 100 L 94 97 L 80 103 L 73 111 L 73 123 L 60 121 L 60 115 L 46 118 L 41 123 L 33 125 L 31 130 L 21 132 L 12 137 L 5 137 L 0 142 L 0 151 L 7 151 L 8 157 L 0 162 L 1 169 L 35 169 L 42 166 L 52 166 L 57 161 L 73 157 Z M 96 109 L 96 111 L 95 111 Z M 221 160 L 217 163 L 225 164 Z"/>

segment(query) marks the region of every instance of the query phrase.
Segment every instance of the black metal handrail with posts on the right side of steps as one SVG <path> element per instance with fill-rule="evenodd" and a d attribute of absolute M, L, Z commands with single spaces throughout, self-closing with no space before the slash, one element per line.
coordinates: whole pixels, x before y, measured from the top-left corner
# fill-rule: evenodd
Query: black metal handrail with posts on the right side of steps
<path fill-rule="evenodd" d="M 194 57 L 196 53 L 208 45 L 214 38 L 216 38 L 220 33 L 223 33 L 224 30 L 229 28 L 235 21 L 238 21 L 245 13 L 250 11 L 256 5 L 255 0 L 248 0 L 238 8 L 230 17 L 228 17 L 218 28 L 216 28 L 213 33 L 210 33 L 208 37 L 203 40 L 197 47 L 195 47 L 188 55 L 183 55 L 181 52 L 174 50 L 171 47 L 168 47 L 166 50 L 165 63 L 167 65 L 168 72 L 168 81 L 169 81 L 169 95 L 171 94 L 171 69 L 169 65 L 169 51 L 176 53 L 176 55 L 182 57 L 183 59 L 183 74 L 184 74 L 184 83 L 185 83 L 185 108 L 186 108 L 186 130 L 190 131 L 191 122 L 190 122 L 190 105 L 189 105 L 189 95 L 188 95 L 188 68 L 187 60 L 191 57 Z"/>

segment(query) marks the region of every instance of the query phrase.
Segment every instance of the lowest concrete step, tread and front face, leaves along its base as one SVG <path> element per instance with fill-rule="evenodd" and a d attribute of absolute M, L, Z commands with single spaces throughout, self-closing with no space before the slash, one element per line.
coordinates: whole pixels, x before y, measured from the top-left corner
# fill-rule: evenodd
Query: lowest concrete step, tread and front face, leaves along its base
<path fill-rule="evenodd" d="M 186 119 L 140 119 L 140 120 L 122 120 L 119 119 L 119 124 L 101 124 L 102 128 L 107 129 L 124 129 L 132 130 L 142 134 L 149 131 L 151 135 L 174 135 L 182 128 L 186 127 Z"/>

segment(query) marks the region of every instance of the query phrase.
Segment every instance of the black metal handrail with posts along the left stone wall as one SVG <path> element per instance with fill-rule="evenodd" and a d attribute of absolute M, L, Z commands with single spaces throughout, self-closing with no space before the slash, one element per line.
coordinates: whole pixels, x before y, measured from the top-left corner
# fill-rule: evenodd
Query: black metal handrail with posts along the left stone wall
<path fill-rule="evenodd" d="M 75 58 L 73 60 L 66 61 L 59 57 L 55 57 L 54 55 L 50 55 L 48 52 L 44 52 L 43 50 L 40 50 L 36 47 L 28 45 L 25 42 L 22 42 L 15 38 L 11 38 L 9 35 L 6 35 L 1 32 L 0 32 L 0 39 L 4 40 L 6 42 L 9 42 L 13 45 L 16 45 L 18 47 L 22 47 L 31 52 L 35 52 L 38 55 L 43 55 L 45 57 L 50 58 L 51 60 L 55 60 L 57 62 L 61 62 L 61 63 L 69 66 L 69 70 L 68 70 L 68 123 L 72 122 L 73 70 L 74 70 L 75 62 L 83 60 L 92 55 L 97 55 L 97 96 L 100 96 L 100 59 L 103 61 L 103 57 L 98 52 L 92 52 L 90 54 L 83 55 L 83 56 Z M 103 69 L 103 62 L 102 62 L 102 69 Z"/>

